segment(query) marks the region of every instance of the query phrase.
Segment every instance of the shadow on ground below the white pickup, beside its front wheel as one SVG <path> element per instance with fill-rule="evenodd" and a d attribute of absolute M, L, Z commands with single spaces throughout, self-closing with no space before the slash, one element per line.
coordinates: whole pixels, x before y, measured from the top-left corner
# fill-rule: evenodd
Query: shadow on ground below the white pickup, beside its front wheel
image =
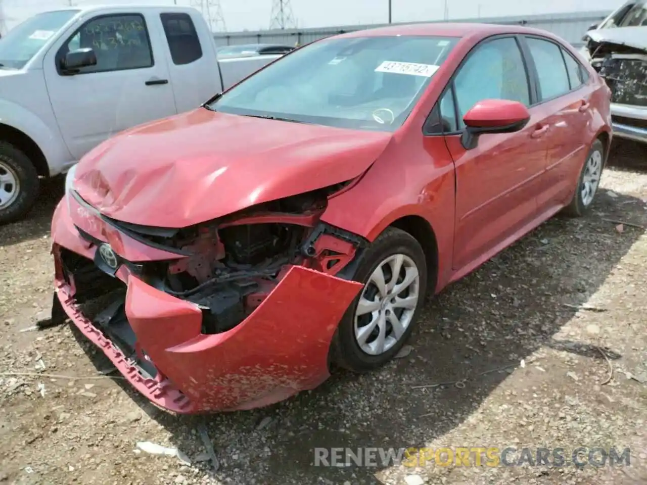
<path fill-rule="evenodd" d="M 41 180 L 41 190 L 34 208 L 23 221 L 0 226 L 0 246 L 38 239 L 49 235 L 56 204 L 65 192 L 65 178 Z"/>

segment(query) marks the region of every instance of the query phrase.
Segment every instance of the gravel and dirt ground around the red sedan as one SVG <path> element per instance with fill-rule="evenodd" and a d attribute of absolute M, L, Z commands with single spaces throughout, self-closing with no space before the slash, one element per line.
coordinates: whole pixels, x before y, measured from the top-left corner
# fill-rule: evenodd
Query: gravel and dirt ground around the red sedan
<path fill-rule="evenodd" d="M 591 215 L 552 219 L 428 301 L 408 355 L 368 375 L 336 372 L 278 405 L 208 417 L 170 415 L 102 376 L 107 361 L 69 326 L 21 332 L 50 308 L 49 222 L 62 195 L 50 182 L 28 221 L 0 230 L 0 482 L 646 482 L 647 238 L 605 221 L 647 226 L 641 160 L 641 147 L 616 146 Z M 419 387 L 433 383 L 448 384 Z M 146 441 L 191 464 L 138 450 Z M 566 457 L 578 446 L 630 447 L 631 461 L 313 466 L 315 447 L 509 446 L 563 447 Z"/>

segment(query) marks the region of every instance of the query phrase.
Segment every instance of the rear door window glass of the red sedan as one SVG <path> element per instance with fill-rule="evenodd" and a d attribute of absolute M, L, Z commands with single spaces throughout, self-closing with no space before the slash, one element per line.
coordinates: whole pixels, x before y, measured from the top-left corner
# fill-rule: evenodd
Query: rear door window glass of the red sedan
<path fill-rule="evenodd" d="M 527 38 L 527 43 L 537 69 L 542 100 L 571 91 L 562 48 L 551 41 L 536 38 Z"/>

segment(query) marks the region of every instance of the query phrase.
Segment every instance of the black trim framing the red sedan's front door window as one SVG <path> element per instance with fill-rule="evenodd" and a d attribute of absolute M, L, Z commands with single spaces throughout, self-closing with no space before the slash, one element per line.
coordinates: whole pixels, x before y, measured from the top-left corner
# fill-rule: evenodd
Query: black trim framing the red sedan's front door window
<path fill-rule="evenodd" d="M 459 129 L 458 131 L 452 131 L 449 133 L 446 133 L 443 131 L 441 131 L 441 133 L 428 133 L 426 131 L 426 127 L 427 127 L 428 121 L 430 120 L 431 116 L 433 116 L 433 113 L 436 109 L 438 110 L 439 115 L 441 117 L 443 116 L 443 113 L 441 112 L 441 108 L 440 108 L 440 102 L 443 99 L 443 96 L 445 95 L 448 89 L 452 90 L 452 99 L 454 100 L 454 116 L 456 119 L 456 124 L 459 125 L 459 120 L 461 118 L 459 118 L 458 102 L 456 98 L 456 89 L 454 85 L 454 80 L 458 75 L 458 73 L 461 71 L 461 69 L 463 69 L 463 66 L 465 65 L 467 60 L 477 50 L 477 48 L 487 44 L 488 42 L 492 42 L 495 40 L 512 38 L 516 41 L 516 45 L 519 48 L 519 52 L 521 55 L 521 61 L 523 62 L 523 70 L 525 70 L 526 80 L 528 83 L 528 96 L 529 96 L 529 103 L 530 103 L 528 108 L 530 109 L 531 107 L 535 106 L 539 99 L 538 92 L 537 92 L 538 79 L 536 78 L 536 75 L 537 75 L 536 71 L 535 70 L 531 71 L 532 58 L 527 59 L 527 55 L 529 54 L 529 52 L 527 52 L 527 50 L 524 50 L 524 48 L 527 48 L 527 46 L 525 45 L 525 42 L 522 36 L 523 34 L 516 34 L 516 33 L 494 34 L 492 36 L 488 36 L 484 39 L 481 39 L 476 44 L 474 44 L 472 48 L 470 48 L 470 50 L 467 52 L 467 54 L 463 56 L 463 59 L 461 59 L 461 62 L 459 63 L 459 65 L 456 67 L 456 69 L 454 69 L 454 72 L 452 72 L 452 76 L 450 76 L 450 79 L 447 81 L 446 85 L 444 85 L 443 91 L 441 91 L 441 94 L 438 96 L 438 99 L 436 100 L 431 111 L 427 115 L 427 118 L 425 118 L 424 123 L 422 124 L 422 136 L 454 136 L 454 135 L 460 135 L 461 133 L 463 133 L 462 129 Z M 529 60 L 531 62 L 529 62 Z M 532 69 L 534 69 L 534 63 L 532 63 Z"/>

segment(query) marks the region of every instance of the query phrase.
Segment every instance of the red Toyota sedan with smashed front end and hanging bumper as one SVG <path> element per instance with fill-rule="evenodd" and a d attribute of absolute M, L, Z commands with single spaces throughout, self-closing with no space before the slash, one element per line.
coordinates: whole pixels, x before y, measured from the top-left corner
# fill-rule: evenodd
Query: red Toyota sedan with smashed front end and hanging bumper
<path fill-rule="evenodd" d="M 589 210 L 609 97 L 540 30 L 316 41 L 72 169 L 52 222 L 54 319 L 178 413 L 272 404 L 331 364 L 375 369 L 426 293 Z"/>

